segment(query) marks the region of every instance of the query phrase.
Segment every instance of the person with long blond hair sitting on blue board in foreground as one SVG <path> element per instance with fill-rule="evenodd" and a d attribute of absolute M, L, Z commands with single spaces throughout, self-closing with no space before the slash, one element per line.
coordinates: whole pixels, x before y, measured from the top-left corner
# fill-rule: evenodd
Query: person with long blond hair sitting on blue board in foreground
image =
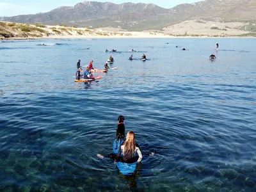
<path fill-rule="evenodd" d="M 123 153 L 123 158 L 121 159 L 121 154 Z M 134 157 L 138 154 L 138 160 Z M 122 161 L 123 163 L 135 163 L 140 162 L 142 159 L 142 154 L 139 147 L 136 147 L 135 134 L 132 131 L 127 132 L 126 140 L 121 145 L 118 154 L 116 155 L 116 161 Z M 115 162 L 116 163 L 116 162 Z"/>

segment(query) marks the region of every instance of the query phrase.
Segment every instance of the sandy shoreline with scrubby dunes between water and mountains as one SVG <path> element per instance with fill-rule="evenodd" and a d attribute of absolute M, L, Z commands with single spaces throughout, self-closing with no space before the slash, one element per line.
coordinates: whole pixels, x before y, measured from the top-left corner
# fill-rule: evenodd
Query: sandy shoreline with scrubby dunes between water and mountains
<path fill-rule="evenodd" d="M 184 25 L 182 25 L 184 26 Z M 183 28 L 183 27 L 182 27 Z M 186 29 L 186 28 L 185 28 Z M 41 24 L 20 24 L 0 22 L 0 40 L 45 40 L 45 39 L 86 39 L 86 38 L 255 38 L 256 33 L 196 29 L 196 31 L 115 31 L 115 28 L 88 29 L 76 26 L 45 26 Z M 171 34 L 174 33 L 175 34 Z M 248 32 L 248 31 L 247 31 Z"/>

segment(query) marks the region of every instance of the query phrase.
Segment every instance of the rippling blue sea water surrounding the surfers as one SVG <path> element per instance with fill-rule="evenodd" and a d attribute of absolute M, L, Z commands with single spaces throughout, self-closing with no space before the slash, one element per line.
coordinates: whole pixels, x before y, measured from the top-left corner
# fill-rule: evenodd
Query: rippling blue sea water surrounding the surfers
<path fill-rule="evenodd" d="M 0 42 L 0 191 L 256 191 L 255 43 Z M 117 70 L 74 82 L 77 60 L 110 55 Z M 108 158 L 119 115 L 143 154 L 130 177 Z"/>

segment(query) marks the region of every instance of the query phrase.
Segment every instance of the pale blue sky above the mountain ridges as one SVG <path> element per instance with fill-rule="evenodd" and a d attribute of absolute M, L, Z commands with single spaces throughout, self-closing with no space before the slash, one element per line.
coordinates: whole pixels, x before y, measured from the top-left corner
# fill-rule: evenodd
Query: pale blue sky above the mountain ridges
<path fill-rule="evenodd" d="M 33 14 L 39 12 L 49 12 L 59 6 L 74 6 L 83 0 L 0 0 L 0 16 L 14 16 L 23 14 Z M 94 0 L 111 3 L 154 3 L 163 8 L 172 8 L 177 4 L 195 3 L 199 0 Z"/>

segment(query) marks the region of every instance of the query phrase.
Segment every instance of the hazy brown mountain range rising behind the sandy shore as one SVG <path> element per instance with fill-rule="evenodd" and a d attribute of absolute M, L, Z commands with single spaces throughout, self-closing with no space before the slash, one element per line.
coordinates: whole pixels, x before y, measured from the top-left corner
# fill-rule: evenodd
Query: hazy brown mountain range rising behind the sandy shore
<path fill-rule="evenodd" d="M 205 0 L 193 4 L 179 4 L 170 9 L 161 8 L 156 4 L 83 1 L 46 13 L 0 17 L 0 20 L 87 28 L 119 27 L 128 31 L 141 31 L 163 29 L 193 19 L 247 22 L 253 25 L 256 21 L 255 12 L 256 0 Z"/>

